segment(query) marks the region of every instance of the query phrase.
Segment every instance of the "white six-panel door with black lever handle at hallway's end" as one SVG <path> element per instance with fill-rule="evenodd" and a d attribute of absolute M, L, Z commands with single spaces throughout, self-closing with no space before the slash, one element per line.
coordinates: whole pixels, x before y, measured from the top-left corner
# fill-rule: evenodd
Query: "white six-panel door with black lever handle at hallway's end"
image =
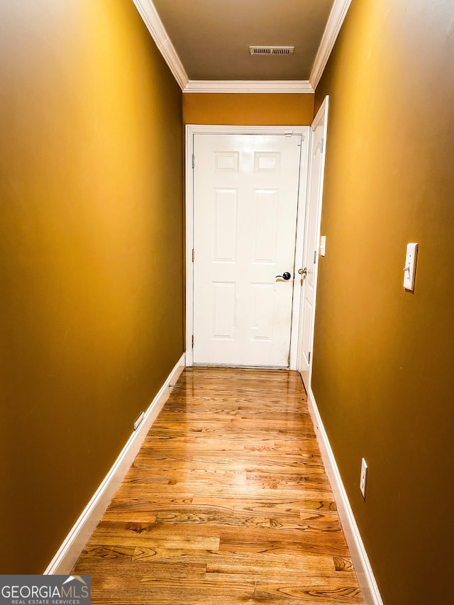
<path fill-rule="evenodd" d="M 300 155 L 301 135 L 194 135 L 194 363 L 289 367 Z"/>

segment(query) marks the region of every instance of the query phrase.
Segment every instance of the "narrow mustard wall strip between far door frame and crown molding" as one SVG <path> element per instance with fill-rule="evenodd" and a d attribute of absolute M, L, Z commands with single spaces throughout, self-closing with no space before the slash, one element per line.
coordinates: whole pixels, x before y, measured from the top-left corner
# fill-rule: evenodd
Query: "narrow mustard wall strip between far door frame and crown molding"
<path fill-rule="evenodd" d="M 185 124 L 233 126 L 307 126 L 314 115 L 314 94 L 183 95 Z"/>

